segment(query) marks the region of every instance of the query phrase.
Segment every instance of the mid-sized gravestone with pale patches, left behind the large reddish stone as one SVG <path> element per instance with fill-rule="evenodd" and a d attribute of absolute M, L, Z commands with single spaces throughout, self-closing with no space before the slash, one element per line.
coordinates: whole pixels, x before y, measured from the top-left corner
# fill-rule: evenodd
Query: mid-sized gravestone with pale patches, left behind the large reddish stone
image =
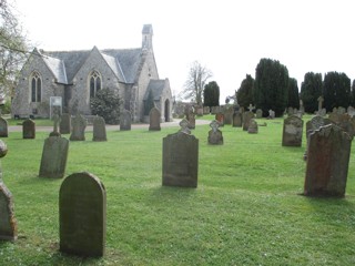
<path fill-rule="evenodd" d="M 283 146 L 302 146 L 303 120 L 292 115 L 284 120 Z"/>

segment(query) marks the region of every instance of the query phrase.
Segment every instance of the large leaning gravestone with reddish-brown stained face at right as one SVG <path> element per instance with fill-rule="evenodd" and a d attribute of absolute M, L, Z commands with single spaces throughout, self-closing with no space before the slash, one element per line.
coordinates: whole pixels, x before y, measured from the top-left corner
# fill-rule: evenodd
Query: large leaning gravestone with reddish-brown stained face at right
<path fill-rule="evenodd" d="M 352 137 L 329 124 L 310 135 L 304 195 L 345 195 Z"/>

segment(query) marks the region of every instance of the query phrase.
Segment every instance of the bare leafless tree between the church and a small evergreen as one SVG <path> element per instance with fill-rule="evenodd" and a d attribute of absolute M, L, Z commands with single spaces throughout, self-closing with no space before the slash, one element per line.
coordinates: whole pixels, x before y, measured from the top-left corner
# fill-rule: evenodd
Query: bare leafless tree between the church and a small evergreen
<path fill-rule="evenodd" d="M 191 99 L 202 105 L 203 89 L 211 76 L 212 72 L 209 69 L 201 65 L 199 61 L 194 61 L 191 64 L 184 90 L 181 92 L 182 98 L 185 100 Z"/>

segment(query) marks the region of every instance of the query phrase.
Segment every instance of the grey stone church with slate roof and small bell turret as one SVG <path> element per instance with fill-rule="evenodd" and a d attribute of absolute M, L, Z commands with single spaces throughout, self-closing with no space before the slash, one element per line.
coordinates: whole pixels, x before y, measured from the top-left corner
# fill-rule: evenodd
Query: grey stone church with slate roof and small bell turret
<path fill-rule="evenodd" d="M 142 47 L 89 51 L 34 49 L 20 72 L 11 104 L 12 117 L 50 117 L 53 99 L 62 112 L 91 115 L 90 99 L 110 89 L 123 100 L 133 122 L 146 120 L 156 106 L 161 122 L 172 120 L 169 79 L 159 79 L 153 52 L 153 28 L 144 24 Z M 148 102 L 153 101 L 153 102 Z M 144 108 L 145 106 L 145 108 Z"/>

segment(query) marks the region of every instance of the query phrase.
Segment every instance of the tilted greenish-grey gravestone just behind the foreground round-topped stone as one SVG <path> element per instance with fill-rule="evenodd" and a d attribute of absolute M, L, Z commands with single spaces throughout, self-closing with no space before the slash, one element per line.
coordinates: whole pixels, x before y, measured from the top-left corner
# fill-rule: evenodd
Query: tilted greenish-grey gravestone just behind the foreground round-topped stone
<path fill-rule="evenodd" d="M 49 136 L 44 141 L 39 177 L 61 178 L 64 176 L 69 141 L 61 136 Z"/>

